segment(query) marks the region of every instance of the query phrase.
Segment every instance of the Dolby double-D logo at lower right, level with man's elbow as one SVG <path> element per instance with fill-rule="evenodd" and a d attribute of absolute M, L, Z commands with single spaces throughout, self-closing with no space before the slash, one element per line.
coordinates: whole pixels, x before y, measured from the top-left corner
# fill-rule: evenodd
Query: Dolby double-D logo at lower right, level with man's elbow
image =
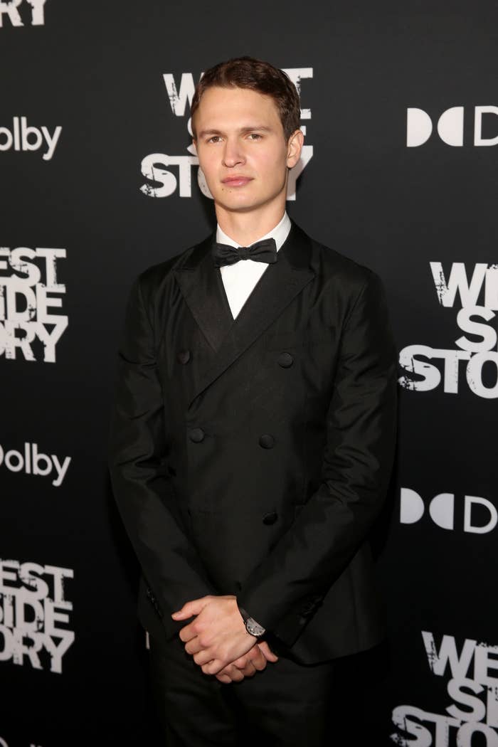
<path fill-rule="evenodd" d="M 458 506 L 459 508 L 459 506 Z M 426 503 L 410 488 L 400 490 L 399 521 L 417 524 L 426 512 Z M 429 501 L 429 516 L 441 529 L 455 529 L 455 495 L 439 493 Z M 498 524 L 498 511 L 488 498 L 464 496 L 463 530 L 472 534 L 487 534 Z"/>

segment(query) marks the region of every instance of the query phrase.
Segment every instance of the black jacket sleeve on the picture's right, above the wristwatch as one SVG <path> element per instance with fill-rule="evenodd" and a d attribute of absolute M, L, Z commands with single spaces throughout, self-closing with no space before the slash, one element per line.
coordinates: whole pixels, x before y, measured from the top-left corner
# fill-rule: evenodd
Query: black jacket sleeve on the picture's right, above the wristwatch
<path fill-rule="evenodd" d="M 379 515 L 396 434 L 396 349 L 384 289 L 369 271 L 343 323 L 320 486 L 237 600 L 286 645 Z"/>

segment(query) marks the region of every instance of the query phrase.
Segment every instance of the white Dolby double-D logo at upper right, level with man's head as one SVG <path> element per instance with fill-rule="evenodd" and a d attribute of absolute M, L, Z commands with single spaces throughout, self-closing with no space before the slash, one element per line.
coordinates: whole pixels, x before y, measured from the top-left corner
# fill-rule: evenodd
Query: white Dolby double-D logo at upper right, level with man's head
<path fill-rule="evenodd" d="M 498 145 L 498 106 L 452 106 L 443 111 L 435 125 L 440 140 L 453 148 L 464 145 L 464 123 L 473 121 L 473 145 L 476 147 Z M 486 134 L 483 133 L 484 125 Z M 417 148 L 429 140 L 434 123 L 423 109 L 406 110 L 406 146 Z M 490 137 L 492 130 L 494 134 Z M 465 143 L 466 145 L 468 143 Z"/>

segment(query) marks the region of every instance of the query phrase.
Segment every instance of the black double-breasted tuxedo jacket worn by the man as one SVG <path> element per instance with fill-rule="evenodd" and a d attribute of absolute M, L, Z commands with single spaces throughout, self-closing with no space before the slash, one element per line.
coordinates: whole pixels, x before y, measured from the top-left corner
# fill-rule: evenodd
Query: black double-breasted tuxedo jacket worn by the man
<path fill-rule="evenodd" d="M 382 284 L 293 223 L 234 320 L 212 241 L 128 303 L 110 468 L 140 620 L 171 636 L 184 602 L 233 594 L 299 662 L 370 648 L 396 422 Z"/>

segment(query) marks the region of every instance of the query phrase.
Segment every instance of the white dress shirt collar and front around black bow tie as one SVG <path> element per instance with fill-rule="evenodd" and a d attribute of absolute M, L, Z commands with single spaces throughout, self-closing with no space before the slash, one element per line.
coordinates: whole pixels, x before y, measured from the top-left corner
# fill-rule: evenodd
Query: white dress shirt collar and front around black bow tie
<path fill-rule="evenodd" d="M 263 241 L 266 238 L 274 238 L 278 249 L 284 244 L 285 239 L 290 232 L 290 217 L 287 213 L 284 213 L 284 217 L 281 219 L 278 226 L 275 226 L 270 232 L 256 239 L 256 241 Z M 240 247 L 237 241 L 227 236 L 220 226 L 217 226 L 217 238 L 218 244 L 228 244 L 230 247 Z M 254 242 L 255 243 L 255 242 Z M 261 278 L 261 275 L 267 269 L 267 262 L 256 262 L 254 259 L 243 259 L 234 264 L 224 264 L 220 267 L 220 273 L 225 286 L 226 297 L 228 298 L 228 304 L 230 305 L 232 317 L 237 318 L 237 314 L 242 309 L 244 303 L 249 298 L 250 294 L 255 288 L 256 283 Z"/>

